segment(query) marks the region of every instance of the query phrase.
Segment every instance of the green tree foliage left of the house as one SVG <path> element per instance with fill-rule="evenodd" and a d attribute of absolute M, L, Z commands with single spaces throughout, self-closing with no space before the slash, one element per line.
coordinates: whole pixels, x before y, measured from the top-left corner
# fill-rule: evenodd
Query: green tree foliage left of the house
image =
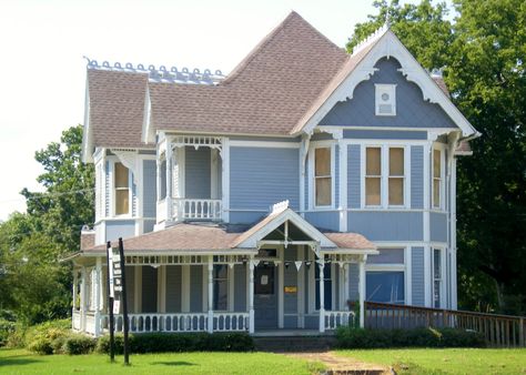
<path fill-rule="evenodd" d="M 70 311 L 71 270 L 60 263 L 78 250 L 83 224 L 93 222 L 93 166 L 81 162 L 82 126 L 36 153 L 44 192 L 24 189 L 28 212 L 0 224 L 0 307 L 26 323 Z"/>

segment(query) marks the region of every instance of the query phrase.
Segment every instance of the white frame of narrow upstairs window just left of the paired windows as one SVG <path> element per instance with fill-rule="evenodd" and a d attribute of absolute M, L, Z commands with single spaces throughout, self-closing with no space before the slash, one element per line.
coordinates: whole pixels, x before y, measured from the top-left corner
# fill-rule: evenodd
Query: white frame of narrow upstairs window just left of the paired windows
<path fill-rule="evenodd" d="M 316 205 L 315 192 L 315 153 L 316 149 L 331 149 L 331 204 Z M 312 142 L 308 150 L 308 209 L 310 210 L 327 210 L 336 206 L 336 143 L 334 141 Z"/>

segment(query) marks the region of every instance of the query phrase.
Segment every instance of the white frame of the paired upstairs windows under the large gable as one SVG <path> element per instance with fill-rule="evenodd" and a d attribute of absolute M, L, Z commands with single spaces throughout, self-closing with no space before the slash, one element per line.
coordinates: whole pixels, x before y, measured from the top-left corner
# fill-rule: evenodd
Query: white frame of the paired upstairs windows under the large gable
<path fill-rule="evenodd" d="M 366 204 L 366 186 L 365 186 L 365 179 L 366 179 L 366 149 L 367 148 L 380 148 L 381 149 L 381 196 L 380 196 L 380 205 L 368 205 Z M 403 149 L 404 150 L 404 204 L 395 205 L 390 204 L 390 149 Z M 409 209 L 411 207 L 411 145 L 402 144 L 402 143 L 387 143 L 387 144 L 378 144 L 378 143 L 366 143 L 362 145 L 361 149 L 361 160 L 362 160 L 362 171 L 361 171 L 361 202 L 362 209 L 387 209 L 387 210 L 399 210 L 399 209 Z"/>

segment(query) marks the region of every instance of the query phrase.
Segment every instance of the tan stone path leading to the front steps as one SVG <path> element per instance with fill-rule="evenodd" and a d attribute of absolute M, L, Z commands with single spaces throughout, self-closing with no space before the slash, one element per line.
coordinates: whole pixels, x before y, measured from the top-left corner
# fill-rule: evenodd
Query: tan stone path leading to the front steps
<path fill-rule="evenodd" d="M 296 358 L 322 362 L 327 366 L 327 374 L 364 374 L 364 375 L 392 375 L 395 374 L 390 367 L 360 362 L 353 358 L 335 355 L 332 352 L 316 353 L 286 353 Z"/>

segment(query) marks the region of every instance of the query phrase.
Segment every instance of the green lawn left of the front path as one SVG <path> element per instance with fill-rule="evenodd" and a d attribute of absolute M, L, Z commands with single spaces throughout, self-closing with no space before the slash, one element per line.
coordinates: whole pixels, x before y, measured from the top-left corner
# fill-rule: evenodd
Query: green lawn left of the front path
<path fill-rule="evenodd" d="M 109 356 L 40 356 L 24 349 L 0 349 L 0 374 L 313 374 L 321 364 L 269 353 L 132 354 L 114 364 Z"/>

